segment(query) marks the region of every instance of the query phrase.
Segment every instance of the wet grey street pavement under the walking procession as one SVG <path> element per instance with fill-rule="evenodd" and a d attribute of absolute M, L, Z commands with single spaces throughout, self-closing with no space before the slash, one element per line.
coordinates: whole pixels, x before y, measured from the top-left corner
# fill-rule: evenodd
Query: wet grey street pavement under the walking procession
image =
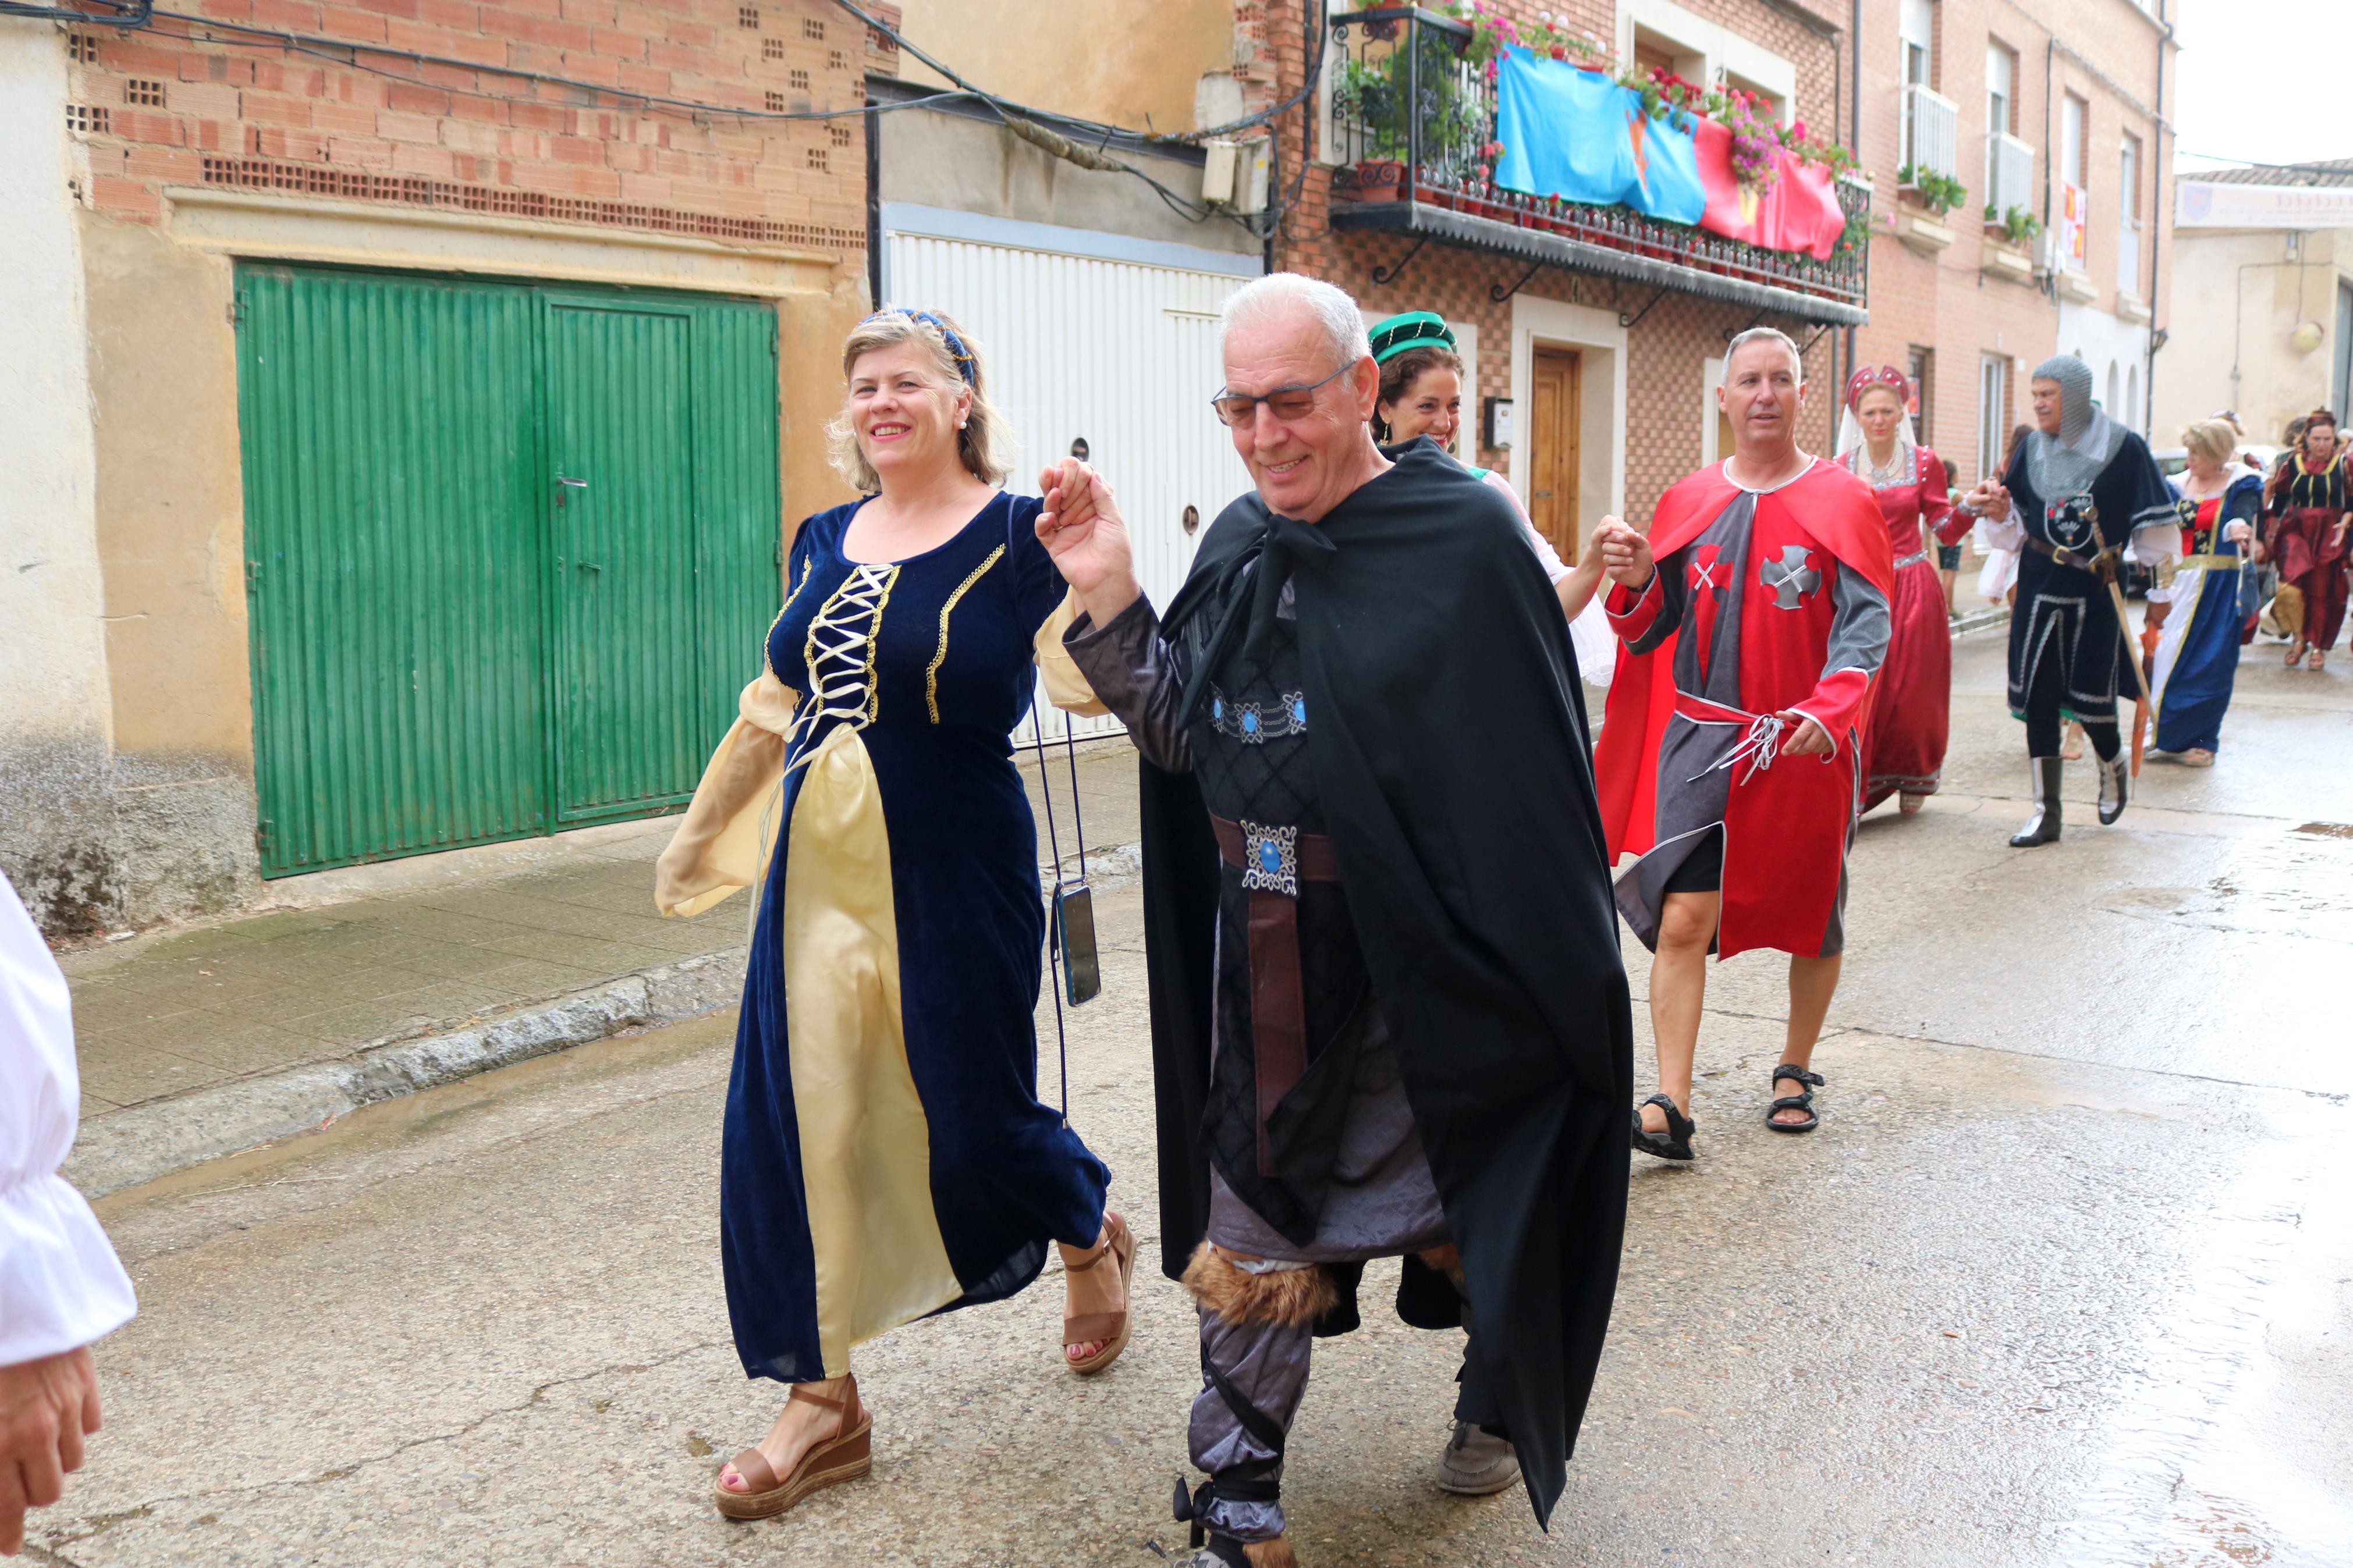
<path fill-rule="evenodd" d="M 1946 792 L 1861 830 L 1821 1133 L 1762 1126 L 1781 966 L 1713 976 L 1701 1157 L 1635 1168 L 1551 1535 L 1518 1488 L 1428 1483 L 1459 1340 L 1369 1309 L 1374 1269 L 1294 1432 L 1301 1561 L 2353 1563 L 2348 663 L 2249 649 L 2219 766 L 2151 764 L 2101 830 L 2078 764 L 2066 839 L 2009 851 L 2024 741 L 1998 637 L 1967 639 Z M 1099 919 L 1071 1119 L 1151 1258 L 1134 884 Z M 732 1037 L 718 1013 L 579 1046 L 106 1199 L 141 1316 L 99 1347 L 108 1425 L 33 1561 L 1181 1554 L 1193 1312 L 1148 1269 L 1092 1382 L 1059 1366 L 1052 1267 L 864 1347 L 873 1476 L 715 1516 L 711 1474 L 781 1396 L 741 1375 L 720 1288 Z"/>

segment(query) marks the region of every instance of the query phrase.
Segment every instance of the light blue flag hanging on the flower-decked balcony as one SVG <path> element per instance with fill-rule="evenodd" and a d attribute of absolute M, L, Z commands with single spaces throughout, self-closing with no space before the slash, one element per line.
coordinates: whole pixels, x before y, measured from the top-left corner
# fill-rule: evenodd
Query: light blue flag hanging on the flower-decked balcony
<path fill-rule="evenodd" d="M 1699 223 L 1708 209 L 1689 115 L 1652 120 L 1642 94 L 1598 71 L 1501 52 L 1494 136 L 1504 143 L 1494 183 L 1506 190 L 1633 207 L 1668 223 Z"/>

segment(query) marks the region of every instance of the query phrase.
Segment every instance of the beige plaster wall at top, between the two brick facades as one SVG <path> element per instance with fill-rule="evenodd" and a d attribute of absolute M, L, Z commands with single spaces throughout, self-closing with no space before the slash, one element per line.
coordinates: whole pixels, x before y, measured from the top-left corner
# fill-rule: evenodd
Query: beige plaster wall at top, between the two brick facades
<path fill-rule="evenodd" d="M 1200 80 L 1235 66 L 1233 0 L 901 0 L 899 33 L 986 92 L 1129 129 L 1195 129 Z M 946 87 L 913 54 L 899 71 Z"/>

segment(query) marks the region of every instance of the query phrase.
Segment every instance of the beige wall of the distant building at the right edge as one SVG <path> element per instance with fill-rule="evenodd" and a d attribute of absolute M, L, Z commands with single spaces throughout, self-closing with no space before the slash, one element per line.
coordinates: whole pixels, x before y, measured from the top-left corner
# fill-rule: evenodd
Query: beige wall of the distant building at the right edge
<path fill-rule="evenodd" d="M 2353 280 L 2353 230 L 2301 235 L 2292 263 L 2282 230 L 2177 228 L 2172 273 L 2181 310 L 2158 353 L 2155 444 L 2172 447 L 2184 423 L 2221 407 L 2238 409 L 2249 440 L 2278 442 L 2289 418 L 2329 402 L 2337 284 Z M 2287 339 L 2304 320 L 2322 336 L 2299 355 Z"/>

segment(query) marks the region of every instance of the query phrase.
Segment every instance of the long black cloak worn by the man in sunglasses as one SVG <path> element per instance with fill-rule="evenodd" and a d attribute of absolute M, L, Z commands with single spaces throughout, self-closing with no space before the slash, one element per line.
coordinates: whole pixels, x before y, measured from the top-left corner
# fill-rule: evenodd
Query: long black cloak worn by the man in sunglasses
<path fill-rule="evenodd" d="M 1511 503 L 1428 440 L 1287 552 L 1308 762 L 1414 1124 L 1461 1248 L 1475 1354 L 1548 1523 L 1626 1232 L 1633 1020 L 1577 654 Z M 1162 616 L 1247 616 L 1257 494 Z M 1162 1269 L 1209 1218 L 1217 842 L 1191 773 L 1144 764 L 1144 931 Z"/>

